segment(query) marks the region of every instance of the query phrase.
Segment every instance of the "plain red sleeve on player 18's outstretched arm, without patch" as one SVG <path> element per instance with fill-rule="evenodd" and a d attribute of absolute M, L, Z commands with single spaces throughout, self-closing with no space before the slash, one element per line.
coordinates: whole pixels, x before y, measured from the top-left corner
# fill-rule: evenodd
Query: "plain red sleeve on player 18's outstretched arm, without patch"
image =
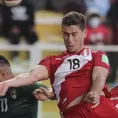
<path fill-rule="evenodd" d="M 51 56 L 48 56 L 48 57 L 44 58 L 43 60 L 41 60 L 39 65 L 43 65 L 43 66 L 45 66 L 47 68 L 48 75 L 50 77 L 50 75 L 51 75 L 51 65 L 52 65 Z"/>

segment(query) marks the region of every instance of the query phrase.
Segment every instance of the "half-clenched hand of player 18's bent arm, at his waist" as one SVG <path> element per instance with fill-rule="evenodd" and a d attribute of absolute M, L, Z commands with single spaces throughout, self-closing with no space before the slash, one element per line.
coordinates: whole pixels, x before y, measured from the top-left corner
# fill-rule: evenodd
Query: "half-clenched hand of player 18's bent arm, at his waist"
<path fill-rule="evenodd" d="M 95 104 L 92 106 L 92 108 L 94 108 L 100 103 L 100 95 L 94 91 L 90 91 L 85 95 L 83 100 Z"/>

